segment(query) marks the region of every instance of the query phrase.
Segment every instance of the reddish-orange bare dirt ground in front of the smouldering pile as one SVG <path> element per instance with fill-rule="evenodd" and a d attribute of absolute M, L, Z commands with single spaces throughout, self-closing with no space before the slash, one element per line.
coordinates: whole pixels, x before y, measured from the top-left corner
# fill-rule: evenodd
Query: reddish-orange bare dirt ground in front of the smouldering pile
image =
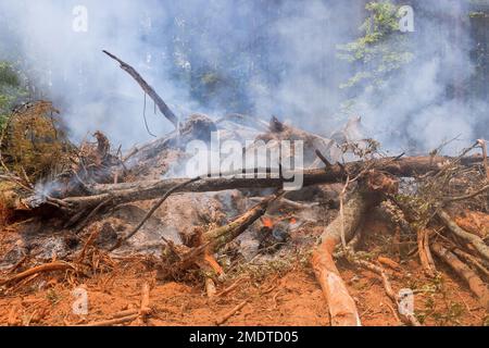
<path fill-rule="evenodd" d="M 364 231 L 365 249 L 400 262 L 392 243 L 396 235 L 388 226 L 367 222 Z M 436 278 L 423 275 L 415 254 L 400 264 L 399 271 L 390 272 L 392 286 L 396 291 L 413 289 L 415 312 L 423 324 L 488 323 L 488 313 L 467 286 L 439 262 L 441 272 Z M 376 274 L 351 266 L 347 261 L 339 261 L 338 265 L 356 301 L 363 325 L 402 324 Z M 138 309 L 145 283 L 151 286 L 151 315 L 146 321 L 136 319 L 123 325 L 215 325 L 216 320 L 243 301 L 248 302 L 242 310 L 224 325 L 329 325 L 326 301 L 306 261 L 298 260 L 276 272 L 253 270 L 236 273 L 234 278 L 218 284 L 217 291 L 242 277 L 234 290 L 213 299 L 206 297 L 200 283 L 156 281 L 156 272 L 139 258 L 116 262 L 112 271 L 89 278 L 73 281 L 63 273 L 43 275 L 0 295 L 0 325 L 80 325 L 108 320 L 114 313 Z M 87 290 L 88 315 L 73 313 L 76 301 L 73 290 L 77 287 Z"/>

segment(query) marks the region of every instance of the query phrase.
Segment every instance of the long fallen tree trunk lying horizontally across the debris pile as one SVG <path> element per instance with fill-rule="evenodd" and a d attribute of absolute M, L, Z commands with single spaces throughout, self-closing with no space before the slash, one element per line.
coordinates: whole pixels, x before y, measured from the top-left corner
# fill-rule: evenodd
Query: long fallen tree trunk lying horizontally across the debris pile
<path fill-rule="evenodd" d="M 408 177 L 439 171 L 451 160 L 454 159 L 446 157 L 386 158 L 374 160 L 375 162 L 371 167 L 391 175 Z M 471 165 L 481 163 L 481 157 L 467 157 L 463 158 L 460 163 L 462 165 Z M 298 172 L 297 175 L 303 176 L 304 187 L 317 184 L 333 184 L 341 182 L 347 175 L 350 175 L 350 177 L 359 175 L 368 164 L 369 162 L 365 161 L 350 162 L 344 165 L 331 165 L 328 169 L 304 170 Z M 263 176 L 266 177 L 246 177 L 241 174 L 229 177 L 203 177 L 197 183 L 181 187 L 178 192 L 204 192 L 244 188 L 281 188 L 287 182 L 286 179 L 273 176 L 269 173 L 264 173 Z M 161 197 L 172 187 L 181 185 L 187 181 L 187 178 L 177 178 L 112 185 L 93 185 L 90 187 L 90 196 L 68 197 L 59 201 L 62 203 L 60 206 L 62 206 L 61 209 L 63 210 L 66 210 L 65 207 L 67 206 L 72 211 L 79 211 L 80 209 L 95 208 L 109 199 L 113 204 L 150 200 Z M 23 200 L 23 202 L 28 206 L 29 198 Z"/>

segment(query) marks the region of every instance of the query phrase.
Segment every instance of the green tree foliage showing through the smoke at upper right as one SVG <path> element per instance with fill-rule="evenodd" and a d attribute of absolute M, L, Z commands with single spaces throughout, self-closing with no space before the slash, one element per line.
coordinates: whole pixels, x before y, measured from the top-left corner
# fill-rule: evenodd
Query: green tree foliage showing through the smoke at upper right
<path fill-rule="evenodd" d="M 371 2 L 371 13 L 360 30 L 363 36 L 353 42 L 338 46 L 339 59 L 358 66 L 358 72 L 341 88 L 381 89 L 393 73 L 410 63 L 406 35 L 399 32 L 399 8 L 390 1 Z"/>

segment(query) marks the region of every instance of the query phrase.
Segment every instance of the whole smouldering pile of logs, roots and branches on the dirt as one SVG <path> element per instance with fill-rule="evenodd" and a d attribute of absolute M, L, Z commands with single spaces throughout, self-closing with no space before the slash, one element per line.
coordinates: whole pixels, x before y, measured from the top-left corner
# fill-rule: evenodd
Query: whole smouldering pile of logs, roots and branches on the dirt
<path fill-rule="evenodd" d="M 438 152 L 386 157 L 376 141 L 358 140 L 358 120 L 330 138 L 276 117 L 265 123 L 239 114 L 217 121 L 193 114 L 179 123 L 130 65 L 105 53 L 154 100 L 175 132 L 127 154 L 113 151 L 100 132 L 93 135 L 96 141 L 79 147 L 63 138 L 55 142 L 63 144 L 59 147 L 63 160 L 57 161 L 62 165 L 48 172 L 45 164 L 40 172 L 27 172 L 22 161 L 12 160 L 9 144 L 3 144 L 0 222 L 3 228 L 20 231 L 22 240 L 3 240 L 12 247 L 0 260 L 5 271 L 0 291 L 51 272 L 76 282 L 111 270 L 116 259 L 145 254 L 158 270 L 159 281 L 201 282 L 212 297 L 240 263 L 304 252 L 333 325 L 361 324 L 356 303 L 337 269 L 339 259 L 377 274 L 396 315 L 408 325 L 421 325 L 415 313 L 403 309 L 402 298 L 391 286 L 397 263 L 373 258 L 361 248 L 363 221 L 378 210 L 392 228 L 399 228 L 399 244 L 408 249 L 414 246 L 401 250 L 401 259 L 417 253 L 425 273 L 432 277 L 439 272 L 438 259 L 489 310 L 488 224 L 468 229 L 452 217 L 461 207 L 481 216 L 489 213 L 484 140 L 459 157 Z M 50 117 L 54 111 L 39 102 L 14 115 L 40 107 L 45 109 L 36 109 L 37 114 Z M 7 133 L 12 129 L 7 127 Z M 185 177 L 183 167 L 190 159 L 186 145 L 191 140 L 209 144 L 213 132 L 222 139 L 255 139 L 251 148 L 260 141 L 276 146 L 278 140 L 302 140 L 303 167 L 296 170 L 303 175 L 303 187 L 284 190 L 293 175 L 281 166 L 252 167 L 252 177 L 241 171 Z M 27 133 L 23 139 L 35 145 L 39 137 L 29 138 Z M 283 152 L 283 160 L 293 158 L 292 152 Z M 317 228 L 319 236 L 309 233 Z M 135 320 L 138 314 L 128 318 Z"/>

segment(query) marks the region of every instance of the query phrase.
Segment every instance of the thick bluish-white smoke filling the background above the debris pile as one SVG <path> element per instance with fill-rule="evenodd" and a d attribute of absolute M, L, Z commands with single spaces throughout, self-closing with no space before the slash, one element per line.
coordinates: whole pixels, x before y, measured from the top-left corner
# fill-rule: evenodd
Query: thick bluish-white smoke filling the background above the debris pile
<path fill-rule="evenodd" d="M 455 147 L 488 137 L 487 100 L 447 91 L 454 72 L 459 80 L 474 74 L 468 26 L 454 39 L 456 21 L 447 21 L 467 17 L 465 1 L 410 2 L 416 32 L 405 35 L 413 38 L 414 62 L 381 102 L 367 92 L 353 96 L 350 114 L 339 112 L 352 97 L 339 86 L 353 67 L 337 59 L 337 47 L 359 36 L 365 1 L 1 0 L 0 59 L 22 58 L 38 90 L 62 109 L 75 140 L 97 129 L 125 148 L 150 139 L 142 91 L 102 49 L 133 64 L 183 117 L 274 114 L 328 135 L 360 115 L 367 135 L 392 150 L 432 149 L 459 135 Z M 78 5 L 87 9 L 87 32 L 73 29 Z M 153 133 L 172 129 L 149 99 L 146 114 Z"/>

